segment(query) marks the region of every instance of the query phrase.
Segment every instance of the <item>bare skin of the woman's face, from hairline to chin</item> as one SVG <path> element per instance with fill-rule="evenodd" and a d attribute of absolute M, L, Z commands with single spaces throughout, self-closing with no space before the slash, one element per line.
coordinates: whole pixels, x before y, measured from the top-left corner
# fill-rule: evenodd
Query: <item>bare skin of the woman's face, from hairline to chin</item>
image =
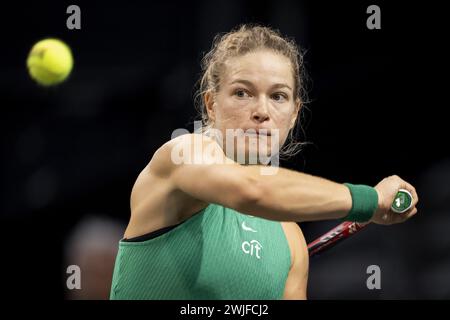
<path fill-rule="evenodd" d="M 205 95 L 208 116 L 222 133 L 222 146 L 226 145 L 226 129 L 265 129 L 273 135 L 267 137 L 266 153 L 277 152 L 271 150 L 271 139 L 278 136 L 278 145 L 284 143 L 301 107 L 294 89 L 291 63 L 282 55 L 260 50 L 227 60 L 220 90 Z M 238 154 L 247 156 L 246 160 L 258 151 L 258 144 L 249 139 L 237 148 Z M 236 153 L 227 155 L 237 160 Z"/>

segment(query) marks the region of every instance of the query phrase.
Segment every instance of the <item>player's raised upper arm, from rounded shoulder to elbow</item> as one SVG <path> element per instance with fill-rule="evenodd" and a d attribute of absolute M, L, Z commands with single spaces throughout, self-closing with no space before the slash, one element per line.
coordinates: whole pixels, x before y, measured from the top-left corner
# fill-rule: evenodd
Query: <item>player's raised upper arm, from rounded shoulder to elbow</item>
<path fill-rule="evenodd" d="M 159 151 L 173 188 L 207 202 L 239 210 L 251 198 L 251 175 L 227 158 L 219 144 L 204 135 L 186 134 L 166 143 Z M 162 169 L 159 169 L 162 171 Z"/>

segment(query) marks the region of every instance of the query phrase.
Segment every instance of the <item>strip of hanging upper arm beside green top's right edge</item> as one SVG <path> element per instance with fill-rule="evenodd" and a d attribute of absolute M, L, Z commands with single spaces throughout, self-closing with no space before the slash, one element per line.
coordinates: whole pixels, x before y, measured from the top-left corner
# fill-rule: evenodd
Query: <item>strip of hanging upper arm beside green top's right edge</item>
<path fill-rule="evenodd" d="M 306 299 L 308 285 L 309 254 L 303 233 L 295 222 L 283 225 L 286 237 L 293 252 L 291 269 L 286 280 L 283 299 Z"/>

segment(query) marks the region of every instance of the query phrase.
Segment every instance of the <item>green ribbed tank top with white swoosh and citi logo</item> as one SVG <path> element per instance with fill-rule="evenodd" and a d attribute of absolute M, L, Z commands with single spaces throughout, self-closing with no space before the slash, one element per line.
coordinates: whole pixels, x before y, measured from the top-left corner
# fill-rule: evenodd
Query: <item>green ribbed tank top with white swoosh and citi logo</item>
<path fill-rule="evenodd" d="M 291 264 L 281 223 L 210 204 L 156 238 L 119 242 L 111 299 L 281 299 Z"/>

